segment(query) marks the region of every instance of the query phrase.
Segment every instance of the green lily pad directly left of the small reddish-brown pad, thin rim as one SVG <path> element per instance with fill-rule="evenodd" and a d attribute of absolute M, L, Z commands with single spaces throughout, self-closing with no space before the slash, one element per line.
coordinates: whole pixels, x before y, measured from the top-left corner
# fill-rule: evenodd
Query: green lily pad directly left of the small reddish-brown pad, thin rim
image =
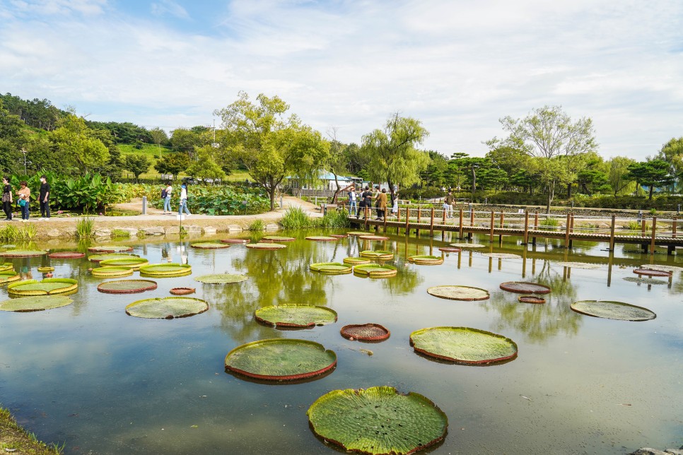
<path fill-rule="evenodd" d="M 314 327 L 337 322 L 337 312 L 316 305 L 271 305 L 254 312 L 256 320 L 275 327 Z"/>

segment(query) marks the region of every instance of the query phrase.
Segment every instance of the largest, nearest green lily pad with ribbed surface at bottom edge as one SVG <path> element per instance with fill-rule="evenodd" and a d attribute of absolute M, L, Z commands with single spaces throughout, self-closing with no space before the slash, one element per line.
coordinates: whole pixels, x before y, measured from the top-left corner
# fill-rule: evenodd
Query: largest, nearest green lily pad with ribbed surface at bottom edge
<path fill-rule="evenodd" d="M 442 440 L 448 428 L 428 398 L 390 386 L 333 390 L 306 414 L 316 435 L 361 454 L 412 454 Z"/>

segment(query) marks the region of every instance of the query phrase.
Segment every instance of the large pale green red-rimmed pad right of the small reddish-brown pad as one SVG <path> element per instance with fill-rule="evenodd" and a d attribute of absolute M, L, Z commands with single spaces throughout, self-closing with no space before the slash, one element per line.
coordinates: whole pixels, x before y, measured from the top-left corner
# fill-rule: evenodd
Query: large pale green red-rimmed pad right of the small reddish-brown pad
<path fill-rule="evenodd" d="M 502 362 L 517 357 L 510 338 L 469 327 L 431 327 L 410 334 L 410 345 L 424 355 L 469 365 Z"/>

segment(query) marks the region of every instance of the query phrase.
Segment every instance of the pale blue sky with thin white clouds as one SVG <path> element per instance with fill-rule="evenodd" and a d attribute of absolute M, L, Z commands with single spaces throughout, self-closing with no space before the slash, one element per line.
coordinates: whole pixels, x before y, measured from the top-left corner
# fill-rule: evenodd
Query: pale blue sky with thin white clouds
<path fill-rule="evenodd" d="M 171 131 L 240 90 L 345 143 L 399 112 L 446 156 L 560 105 L 644 160 L 683 136 L 683 1 L 0 0 L 1 93 Z"/>

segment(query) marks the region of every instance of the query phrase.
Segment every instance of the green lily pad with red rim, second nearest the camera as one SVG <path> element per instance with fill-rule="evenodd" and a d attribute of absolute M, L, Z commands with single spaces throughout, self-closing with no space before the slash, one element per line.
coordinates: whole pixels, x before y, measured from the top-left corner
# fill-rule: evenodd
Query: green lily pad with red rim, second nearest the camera
<path fill-rule="evenodd" d="M 271 381 L 319 376 L 337 365 L 337 355 L 314 341 L 282 338 L 246 343 L 226 355 L 226 370 Z"/>

